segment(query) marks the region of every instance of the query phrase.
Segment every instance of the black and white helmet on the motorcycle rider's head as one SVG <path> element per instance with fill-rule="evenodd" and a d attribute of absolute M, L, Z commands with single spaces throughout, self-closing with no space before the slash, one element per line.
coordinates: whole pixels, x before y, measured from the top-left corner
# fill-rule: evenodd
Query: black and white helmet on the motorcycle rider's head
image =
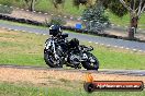
<path fill-rule="evenodd" d="M 49 27 L 49 35 L 56 36 L 59 33 L 62 33 L 62 27 L 59 25 L 52 25 Z"/>

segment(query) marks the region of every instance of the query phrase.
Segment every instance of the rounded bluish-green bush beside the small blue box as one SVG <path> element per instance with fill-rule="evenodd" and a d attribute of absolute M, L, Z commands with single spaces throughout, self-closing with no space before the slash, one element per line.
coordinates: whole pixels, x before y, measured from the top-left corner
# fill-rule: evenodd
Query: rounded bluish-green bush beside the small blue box
<path fill-rule="evenodd" d="M 88 8 L 82 14 L 83 24 L 90 32 L 102 33 L 105 24 L 109 25 L 109 19 L 104 15 L 104 8 L 96 3 L 92 8 Z"/>

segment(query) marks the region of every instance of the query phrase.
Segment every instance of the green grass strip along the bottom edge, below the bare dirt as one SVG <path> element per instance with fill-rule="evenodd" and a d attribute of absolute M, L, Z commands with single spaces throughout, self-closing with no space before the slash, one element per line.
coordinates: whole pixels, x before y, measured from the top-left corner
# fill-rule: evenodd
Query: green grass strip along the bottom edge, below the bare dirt
<path fill-rule="evenodd" d="M 65 89 L 48 86 L 0 83 L 0 96 L 144 96 L 143 92 L 94 92 L 88 94 L 82 87 Z"/>

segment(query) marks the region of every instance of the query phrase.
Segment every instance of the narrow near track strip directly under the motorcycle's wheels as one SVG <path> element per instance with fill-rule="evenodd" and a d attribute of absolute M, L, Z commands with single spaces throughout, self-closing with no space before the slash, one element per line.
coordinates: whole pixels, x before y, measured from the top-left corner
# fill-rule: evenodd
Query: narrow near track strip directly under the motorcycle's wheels
<path fill-rule="evenodd" d="M 130 75 L 130 76 L 145 76 L 145 70 L 111 70 L 111 69 L 99 69 L 99 71 L 88 71 L 78 69 L 54 69 L 46 67 L 29 67 L 29 65 L 11 65 L 0 64 L 0 68 L 12 68 L 12 69 L 29 69 L 29 70 L 54 70 L 54 71 L 66 71 L 66 72 L 81 72 L 81 73 L 103 73 L 103 74 L 118 74 L 118 75 Z"/>

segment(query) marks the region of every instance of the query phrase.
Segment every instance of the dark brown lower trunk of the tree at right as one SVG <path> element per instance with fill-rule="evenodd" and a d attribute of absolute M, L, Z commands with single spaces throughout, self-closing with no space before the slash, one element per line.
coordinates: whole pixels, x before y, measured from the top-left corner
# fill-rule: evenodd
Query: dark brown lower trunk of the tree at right
<path fill-rule="evenodd" d="M 138 16 L 131 17 L 131 25 L 130 25 L 130 29 L 129 29 L 129 39 L 134 39 L 134 34 L 136 33 L 137 23 L 138 23 Z"/>

